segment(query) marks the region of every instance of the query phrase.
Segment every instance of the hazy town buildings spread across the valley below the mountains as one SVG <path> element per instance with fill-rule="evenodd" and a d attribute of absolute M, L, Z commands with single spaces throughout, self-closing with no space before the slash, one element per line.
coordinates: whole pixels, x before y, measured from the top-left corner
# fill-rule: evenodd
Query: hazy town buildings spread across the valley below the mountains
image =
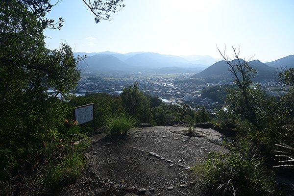
<path fill-rule="evenodd" d="M 218 102 L 209 98 L 201 97 L 201 91 L 213 85 L 223 85 L 224 83 L 205 83 L 197 85 L 193 82 L 175 82 L 178 80 L 189 80 L 189 74 L 173 75 L 132 75 L 123 79 L 120 75 L 107 75 L 101 77 L 83 77 L 77 85 L 76 94 L 87 93 L 107 93 L 111 95 L 120 95 L 124 87 L 138 83 L 138 87 L 144 93 L 153 97 L 162 98 L 168 103 L 188 103 L 191 108 L 199 109 L 202 106 L 214 108 Z M 281 96 L 285 94 L 280 83 L 269 80 L 260 83 L 262 88 L 270 96 Z M 270 90 L 276 87 L 276 91 Z"/>

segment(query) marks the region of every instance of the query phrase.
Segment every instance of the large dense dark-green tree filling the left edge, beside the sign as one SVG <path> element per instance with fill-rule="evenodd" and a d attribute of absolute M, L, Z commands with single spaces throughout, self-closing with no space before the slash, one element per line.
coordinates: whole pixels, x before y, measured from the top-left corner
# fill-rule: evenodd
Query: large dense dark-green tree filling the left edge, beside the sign
<path fill-rule="evenodd" d="M 0 1 L 1 161 L 25 160 L 64 128 L 63 103 L 80 77 L 69 46 L 45 47 L 47 25 L 29 10 L 29 2 L 37 1 Z"/>

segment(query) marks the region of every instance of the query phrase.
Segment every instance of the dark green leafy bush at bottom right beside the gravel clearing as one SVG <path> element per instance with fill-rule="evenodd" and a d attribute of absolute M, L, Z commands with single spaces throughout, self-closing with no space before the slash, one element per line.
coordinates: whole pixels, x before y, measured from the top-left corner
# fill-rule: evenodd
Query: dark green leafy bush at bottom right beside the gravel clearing
<path fill-rule="evenodd" d="M 215 196 L 277 196 L 273 173 L 256 154 L 211 153 L 204 164 L 193 168 L 202 173 L 203 186 L 213 188 Z"/>

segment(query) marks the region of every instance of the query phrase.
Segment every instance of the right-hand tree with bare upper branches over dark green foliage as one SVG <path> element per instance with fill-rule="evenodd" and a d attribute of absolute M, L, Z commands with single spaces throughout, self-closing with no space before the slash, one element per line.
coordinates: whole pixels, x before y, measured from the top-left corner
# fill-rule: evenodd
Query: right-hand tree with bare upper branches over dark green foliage
<path fill-rule="evenodd" d="M 226 110 L 221 110 L 219 116 L 226 121 L 239 124 L 240 136 L 246 138 L 252 145 L 258 146 L 265 156 L 273 159 L 275 144 L 294 142 L 293 89 L 281 98 L 266 96 L 261 85 L 254 88 L 251 78 L 256 71 L 239 59 L 239 52 L 233 48 L 237 60 L 229 61 L 228 69 L 235 78 L 237 89 L 228 91 L 225 101 Z M 237 62 L 234 64 L 233 62 Z M 291 84 L 293 70 L 285 70 L 278 74 L 279 81 Z"/>

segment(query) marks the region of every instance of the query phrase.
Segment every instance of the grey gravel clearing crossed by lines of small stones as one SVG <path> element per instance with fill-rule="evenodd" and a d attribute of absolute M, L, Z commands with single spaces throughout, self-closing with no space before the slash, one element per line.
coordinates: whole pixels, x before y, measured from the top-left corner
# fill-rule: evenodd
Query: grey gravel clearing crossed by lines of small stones
<path fill-rule="evenodd" d="M 224 137 L 213 129 L 199 128 L 198 137 L 188 137 L 184 135 L 187 129 L 136 128 L 119 140 L 104 134 L 93 136 L 86 152 L 89 169 L 58 195 L 206 195 L 208 190 L 198 190 L 201 182 L 187 168 L 203 162 L 210 151 L 227 151 L 215 144 Z"/>

